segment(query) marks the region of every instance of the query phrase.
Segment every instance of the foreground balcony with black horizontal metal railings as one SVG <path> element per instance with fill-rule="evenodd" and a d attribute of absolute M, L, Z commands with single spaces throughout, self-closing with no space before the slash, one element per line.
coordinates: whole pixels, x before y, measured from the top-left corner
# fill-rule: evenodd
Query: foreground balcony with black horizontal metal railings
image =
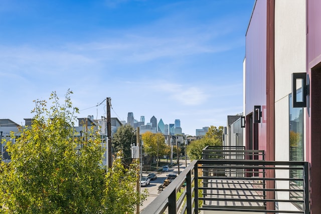
<path fill-rule="evenodd" d="M 190 163 L 141 213 L 310 213 L 307 162 L 264 161 L 264 152 L 244 148 L 207 149 L 207 159 Z"/>

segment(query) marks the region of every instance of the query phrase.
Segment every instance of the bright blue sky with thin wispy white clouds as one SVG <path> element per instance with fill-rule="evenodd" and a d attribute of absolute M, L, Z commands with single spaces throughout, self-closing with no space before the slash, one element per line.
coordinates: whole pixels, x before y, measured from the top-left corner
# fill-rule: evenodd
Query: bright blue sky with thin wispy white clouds
<path fill-rule="evenodd" d="M 1 118 L 71 89 L 78 117 L 181 120 L 186 134 L 243 111 L 254 0 L 0 0 Z"/>

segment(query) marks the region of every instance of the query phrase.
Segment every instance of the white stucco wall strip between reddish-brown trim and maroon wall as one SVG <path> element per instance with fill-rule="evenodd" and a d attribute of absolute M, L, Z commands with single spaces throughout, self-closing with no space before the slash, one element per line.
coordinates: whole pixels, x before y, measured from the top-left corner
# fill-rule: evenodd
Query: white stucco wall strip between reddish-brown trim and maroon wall
<path fill-rule="evenodd" d="M 289 160 L 289 97 L 292 73 L 305 72 L 305 0 L 275 1 L 275 160 Z M 288 177 L 288 170 L 277 170 L 276 177 Z M 289 188 L 278 181 L 277 188 Z M 288 199 L 288 192 L 278 192 Z M 292 204 L 279 203 L 280 210 L 296 210 Z"/>

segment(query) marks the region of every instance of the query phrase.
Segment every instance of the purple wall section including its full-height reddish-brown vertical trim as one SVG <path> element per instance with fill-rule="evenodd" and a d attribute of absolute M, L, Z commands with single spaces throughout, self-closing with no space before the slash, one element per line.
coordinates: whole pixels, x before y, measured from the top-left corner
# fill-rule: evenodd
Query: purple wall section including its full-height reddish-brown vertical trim
<path fill-rule="evenodd" d="M 246 147 L 265 150 L 266 160 L 275 160 L 274 134 L 274 0 L 256 1 L 246 33 L 245 72 L 245 114 Z M 261 106 L 259 124 L 251 124 L 253 108 Z M 267 177 L 274 177 L 273 170 L 266 171 Z M 266 188 L 274 188 L 274 182 L 267 182 Z M 267 192 L 273 199 L 273 192 Z M 273 202 L 267 208 L 275 209 Z"/>

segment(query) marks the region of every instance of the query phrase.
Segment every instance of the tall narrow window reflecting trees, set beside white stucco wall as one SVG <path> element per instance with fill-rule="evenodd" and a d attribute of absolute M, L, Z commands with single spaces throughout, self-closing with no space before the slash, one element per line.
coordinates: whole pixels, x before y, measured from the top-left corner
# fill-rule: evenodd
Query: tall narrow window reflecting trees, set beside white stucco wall
<path fill-rule="evenodd" d="M 302 97 L 302 89 L 296 91 L 296 97 Z M 289 95 L 289 161 L 303 161 L 303 108 L 292 108 L 292 96 Z M 291 169 L 290 178 L 299 179 L 303 177 L 302 170 Z M 301 188 L 302 181 L 290 181 L 290 189 Z M 300 199 L 302 195 L 298 192 L 290 191 L 291 199 Z M 295 204 L 301 206 L 302 204 Z"/>

